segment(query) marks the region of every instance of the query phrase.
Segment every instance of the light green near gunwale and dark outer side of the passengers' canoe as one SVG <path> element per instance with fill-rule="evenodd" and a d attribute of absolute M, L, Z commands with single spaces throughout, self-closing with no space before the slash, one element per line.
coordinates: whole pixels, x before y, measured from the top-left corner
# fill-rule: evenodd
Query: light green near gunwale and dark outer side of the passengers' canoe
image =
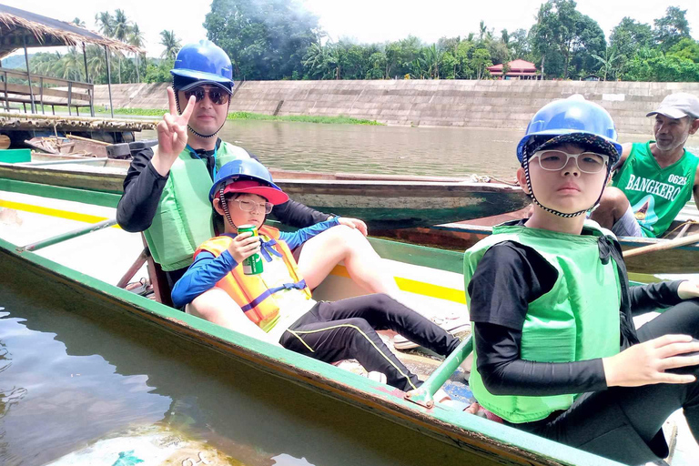
<path fill-rule="evenodd" d="M 404 400 L 400 390 L 192 317 L 32 252 L 17 253 L 15 248 L 14 244 L 0 239 L 3 261 L 19 261 L 25 269 L 44 276 L 42 279 L 64 283 L 76 293 L 76 298 L 83 295 L 81 298 L 110 301 L 117 311 L 164 326 L 181 337 L 227 353 L 258 370 L 293 380 L 309 390 L 456 444 L 477 457 L 511 466 L 620 464 L 457 410 L 441 406 L 427 410 Z"/>

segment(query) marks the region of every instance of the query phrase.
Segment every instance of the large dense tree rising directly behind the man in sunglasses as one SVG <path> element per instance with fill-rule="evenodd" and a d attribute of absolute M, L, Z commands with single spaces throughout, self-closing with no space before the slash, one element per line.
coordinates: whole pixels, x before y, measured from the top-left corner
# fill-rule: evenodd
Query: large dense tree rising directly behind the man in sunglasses
<path fill-rule="evenodd" d="M 319 32 L 318 17 L 293 0 L 214 0 L 204 27 L 244 79 L 301 75 Z"/>

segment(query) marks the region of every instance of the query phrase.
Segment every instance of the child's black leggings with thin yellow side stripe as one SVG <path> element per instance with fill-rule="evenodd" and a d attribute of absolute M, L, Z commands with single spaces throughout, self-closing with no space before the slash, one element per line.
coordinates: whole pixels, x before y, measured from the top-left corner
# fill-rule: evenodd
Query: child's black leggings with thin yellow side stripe
<path fill-rule="evenodd" d="M 385 294 L 321 301 L 294 322 L 279 343 L 316 360 L 356 359 L 366 370 L 386 374 L 388 383 L 413 390 L 420 381 L 386 347 L 375 330 L 393 330 L 432 351 L 447 355 L 459 339 Z"/>

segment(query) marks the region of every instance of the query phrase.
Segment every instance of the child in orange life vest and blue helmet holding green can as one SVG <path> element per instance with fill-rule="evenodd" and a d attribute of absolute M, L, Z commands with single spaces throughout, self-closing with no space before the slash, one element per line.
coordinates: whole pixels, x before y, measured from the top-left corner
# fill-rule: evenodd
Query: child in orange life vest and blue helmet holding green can
<path fill-rule="evenodd" d="M 295 233 L 264 225 L 266 214 L 288 197 L 255 160 L 221 167 L 209 198 L 225 218 L 225 232 L 198 247 L 194 263 L 173 289 L 177 306 L 191 303 L 187 312 L 317 360 L 359 360 L 366 370 L 385 374 L 388 383 L 400 390 L 413 390 L 420 381 L 386 347 L 376 329 L 394 330 L 442 355 L 459 345 L 459 339 L 386 294 L 313 300 L 305 276 L 313 268 L 334 266 L 333 248 L 339 246 L 329 245 L 323 257 L 303 266 L 290 250 L 323 231 L 342 228 L 339 218 Z M 238 234 L 242 225 L 255 226 L 259 236 Z M 263 271 L 246 275 L 240 263 L 255 253 L 263 257 Z M 345 267 L 357 280 L 375 275 L 379 261 L 369 247 L 346 259 Z"/>

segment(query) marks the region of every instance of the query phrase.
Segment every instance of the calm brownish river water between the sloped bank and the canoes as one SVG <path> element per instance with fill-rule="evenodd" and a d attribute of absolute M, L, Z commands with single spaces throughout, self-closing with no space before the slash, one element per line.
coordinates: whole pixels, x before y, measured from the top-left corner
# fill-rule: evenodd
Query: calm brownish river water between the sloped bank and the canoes
<path fill-rule="evenodd" d="M 320 172 L 513 177 L 523 131 L 462 127 L 371 127 L 280 121 L 228 121 L 224 141 L 247 148 L 268 167 Z M 138 139 L 156 137 L 144 131 Z M 648 135 L 621 135 L 621 142 Z M 687 148 L 699 154 L 699 137 Z"/>

